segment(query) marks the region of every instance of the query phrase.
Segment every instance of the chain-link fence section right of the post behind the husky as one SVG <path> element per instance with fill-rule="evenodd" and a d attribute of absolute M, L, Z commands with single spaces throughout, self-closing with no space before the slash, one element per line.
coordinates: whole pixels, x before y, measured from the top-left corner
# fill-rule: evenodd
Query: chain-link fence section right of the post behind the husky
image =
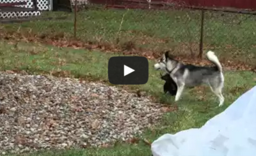
<path fill-rule="evenodd" d="M 219 52 L 223 59 L 255 65 L 255 24 L 255 15 L 207 11 L 204 48 Z"/>

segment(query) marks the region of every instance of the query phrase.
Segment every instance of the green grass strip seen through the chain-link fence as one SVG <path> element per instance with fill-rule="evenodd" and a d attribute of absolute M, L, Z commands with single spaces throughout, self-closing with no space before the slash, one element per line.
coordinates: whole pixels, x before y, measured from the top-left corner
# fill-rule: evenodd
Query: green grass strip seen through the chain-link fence
<path fill-rule="evenodd" d="M 33 21 L 1 25 L 0 31 L 28 32 L 46 36 L 74 33 L 74 13 L 48 12 L 45 17 L 68 20 Z M 255 65 L 256 20 L 250 15 L 205 13 L 204 48 L 213 49 L 220 58 Z M 200 11 L 93 10 L 77 15 L 77 36 L 86 42 L 124 46 L 131 41 L 138 47 L 161 51 L 175 48 L 177 54 L 198 52 Z M 231 57 L 232 56 L 232 57 Z"/>

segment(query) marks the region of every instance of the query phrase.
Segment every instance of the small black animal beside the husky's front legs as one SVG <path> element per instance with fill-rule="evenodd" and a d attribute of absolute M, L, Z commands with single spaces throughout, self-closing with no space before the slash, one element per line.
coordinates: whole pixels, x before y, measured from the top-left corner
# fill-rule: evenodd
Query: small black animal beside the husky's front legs
<path fill-rule="evenodd" d="M 173 79 L 171 78 L 170 74 L 164 74 L 161 75 L 161 79 L 165 81 L 164 83 L 164 94 L 167 94 L 169 92 L 169 94 L 171 94 L 171 96 L 176 96 L 177 93 L 177 85 L 176 83 L 173 81 Z"/>

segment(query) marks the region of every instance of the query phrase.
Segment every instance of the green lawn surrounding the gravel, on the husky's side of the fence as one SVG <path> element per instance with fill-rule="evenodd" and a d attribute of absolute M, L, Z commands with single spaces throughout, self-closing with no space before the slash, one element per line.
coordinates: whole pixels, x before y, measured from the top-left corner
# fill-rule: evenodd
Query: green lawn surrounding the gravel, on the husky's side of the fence
<path fill-rule="evenodd" d="M 102 80 L 108 83 L 108 59 L 113 55 L 97 51 L 56 48 L 36 43 L 17 43 L 0 41 L 1 70 L 25 70 L 28 73 L 52 73 L 75 76 L 87 80 Z M 163 95 L 163 81 L 159 72 L 154 71 L 149 61 L 149 80 L 145 85 L 131 85 L 128 89 L 144 90 L 158 101 L 173 104 L 174 97 Z M 182 99 L 177 103 L 178 110 L 168 112 L 163 120 L 150 129 L 145 129 L 141 138 L 153 141 L 164 133 L 175 133 L 184 129 L 202 126 L 209 118 L 225 110 L 237 97 L 256 85 L 256 74 L 249 71 L 225 71 L 225 104 L 218 108 L 218 100 L 207 87 L 185 89 Z M 21 155 L 21 154 L 20 154 Z M 41 151 L 22 155 L 42 156 L 149 156 L 150 148 L 142 141 L 138 144 L 116 143 L 113 148 L 70 149 Z"/>

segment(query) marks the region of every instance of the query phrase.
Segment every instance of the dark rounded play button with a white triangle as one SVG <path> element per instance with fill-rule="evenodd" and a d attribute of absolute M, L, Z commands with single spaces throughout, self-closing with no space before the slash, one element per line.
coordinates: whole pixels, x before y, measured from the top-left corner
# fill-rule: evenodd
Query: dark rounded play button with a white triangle
<path fill-rule="evenodd" d="M 148 82 L 146 57 L 111 57 L 108 61 L 108 80 L 115 85 L 142 85 Z"/>

